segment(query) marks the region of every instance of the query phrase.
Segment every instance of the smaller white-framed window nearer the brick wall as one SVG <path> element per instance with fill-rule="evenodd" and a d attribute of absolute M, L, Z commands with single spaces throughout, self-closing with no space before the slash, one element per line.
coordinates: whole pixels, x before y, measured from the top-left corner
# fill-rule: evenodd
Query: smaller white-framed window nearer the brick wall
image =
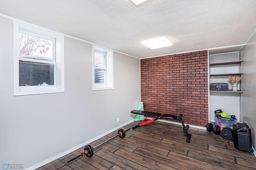
<path fill-rule="evenodd" d="M 93 90 L 113 89 L 113 52 L 94 45 Z"/>

